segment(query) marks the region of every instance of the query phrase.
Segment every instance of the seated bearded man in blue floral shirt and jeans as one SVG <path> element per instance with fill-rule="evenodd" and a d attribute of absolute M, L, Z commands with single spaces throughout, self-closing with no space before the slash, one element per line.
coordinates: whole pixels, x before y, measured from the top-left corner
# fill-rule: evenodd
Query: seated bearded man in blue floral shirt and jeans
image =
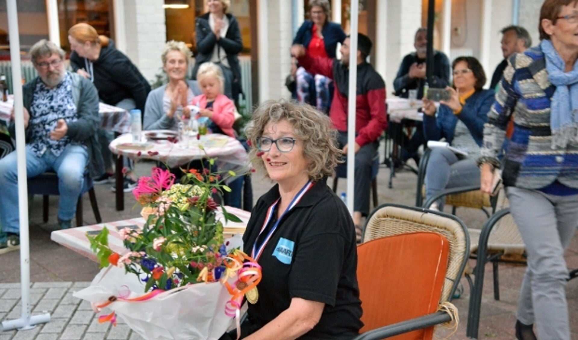
<path fill-rule="evenodd" d="M 26 170 L 28 177 L 45 171 L 58 176 L 58 224 L 71 227 L 84 185 L 84 171 L 102 173 L 96 131 L 98 93 L 90 80 L 64 67 L 64 51 L 45 39 L 30 49 L 39 76 L 23 86 Z M 13 136 L 14 114 L 9 126 Z M 20 248 L 16 152 L 0 159 L 0 254 Z"/>

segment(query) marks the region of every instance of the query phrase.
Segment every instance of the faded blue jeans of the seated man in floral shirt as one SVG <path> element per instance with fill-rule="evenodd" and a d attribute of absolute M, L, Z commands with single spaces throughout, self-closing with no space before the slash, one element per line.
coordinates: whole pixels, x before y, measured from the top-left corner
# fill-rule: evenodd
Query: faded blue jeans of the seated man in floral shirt
<path fill-rule="evenodd" d="M 54 170 L 58 175 L 58 218 L 70 221 L 76 212 L 76 203 L 84 184 L 84 169 L 88 152 L 82 145 L 68 144 L 60 156 L 50 150 L 42 157 L 37 157 L 26 147 L 27 177 L 35 177 L 47 170 Z M 0 159 L 0 222 L 4 233 L 19 233 L 20 216 L 18 216 L 18 174 L 16 169 L 16 151 Z"/>

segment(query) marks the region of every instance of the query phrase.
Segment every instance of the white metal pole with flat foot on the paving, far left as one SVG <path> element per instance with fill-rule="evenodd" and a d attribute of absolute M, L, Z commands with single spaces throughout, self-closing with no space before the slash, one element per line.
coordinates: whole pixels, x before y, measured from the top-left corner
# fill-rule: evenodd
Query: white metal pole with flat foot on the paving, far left
<path fill-rule="evenodd" d="M 2 322 L 2 331 L 27 330 L 36 324 L 50 321 L 50 314 L 31 316 L 30 306 L 30 252 L 28 240 L 28 188 L 26 175 L 26 148 L 24 140 L 24 115 L 22 103 L 22 73 L 20 70 L 20 40 L 18 38 L 18 14 L 16 0 L 6 0 L 8 7 L 8 31 L 10 37 L 10 62 L 12 63 L 12 88 L 16 121 L 16 156 L 18 160 L 18 215 L 20 216 L 20 289 L 22 313 L 20 319 Z"/>

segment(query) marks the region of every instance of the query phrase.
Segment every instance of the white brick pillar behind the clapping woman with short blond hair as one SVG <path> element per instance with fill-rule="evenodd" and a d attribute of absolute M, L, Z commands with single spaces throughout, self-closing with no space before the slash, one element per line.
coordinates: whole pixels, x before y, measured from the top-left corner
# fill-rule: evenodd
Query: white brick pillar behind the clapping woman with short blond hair
<path fill-rule="evenodd" d="M 163 0 L 123 0 L 126 54 L 147 80 L 160 72 L 166 42 Z"/>

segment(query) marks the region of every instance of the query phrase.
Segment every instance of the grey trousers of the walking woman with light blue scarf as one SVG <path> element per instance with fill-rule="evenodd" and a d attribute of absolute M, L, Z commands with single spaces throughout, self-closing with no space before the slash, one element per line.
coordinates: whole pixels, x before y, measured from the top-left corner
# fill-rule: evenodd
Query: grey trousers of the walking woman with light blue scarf
<path fill-rule="evenodd" d="M 528 254 L 517 319 L 535 323 L 538 339 L 569 340 L 564 251 L 578 227 L 578 195 L 554 196 L 513 186 L 506 188 L 506 195 Z"/>

